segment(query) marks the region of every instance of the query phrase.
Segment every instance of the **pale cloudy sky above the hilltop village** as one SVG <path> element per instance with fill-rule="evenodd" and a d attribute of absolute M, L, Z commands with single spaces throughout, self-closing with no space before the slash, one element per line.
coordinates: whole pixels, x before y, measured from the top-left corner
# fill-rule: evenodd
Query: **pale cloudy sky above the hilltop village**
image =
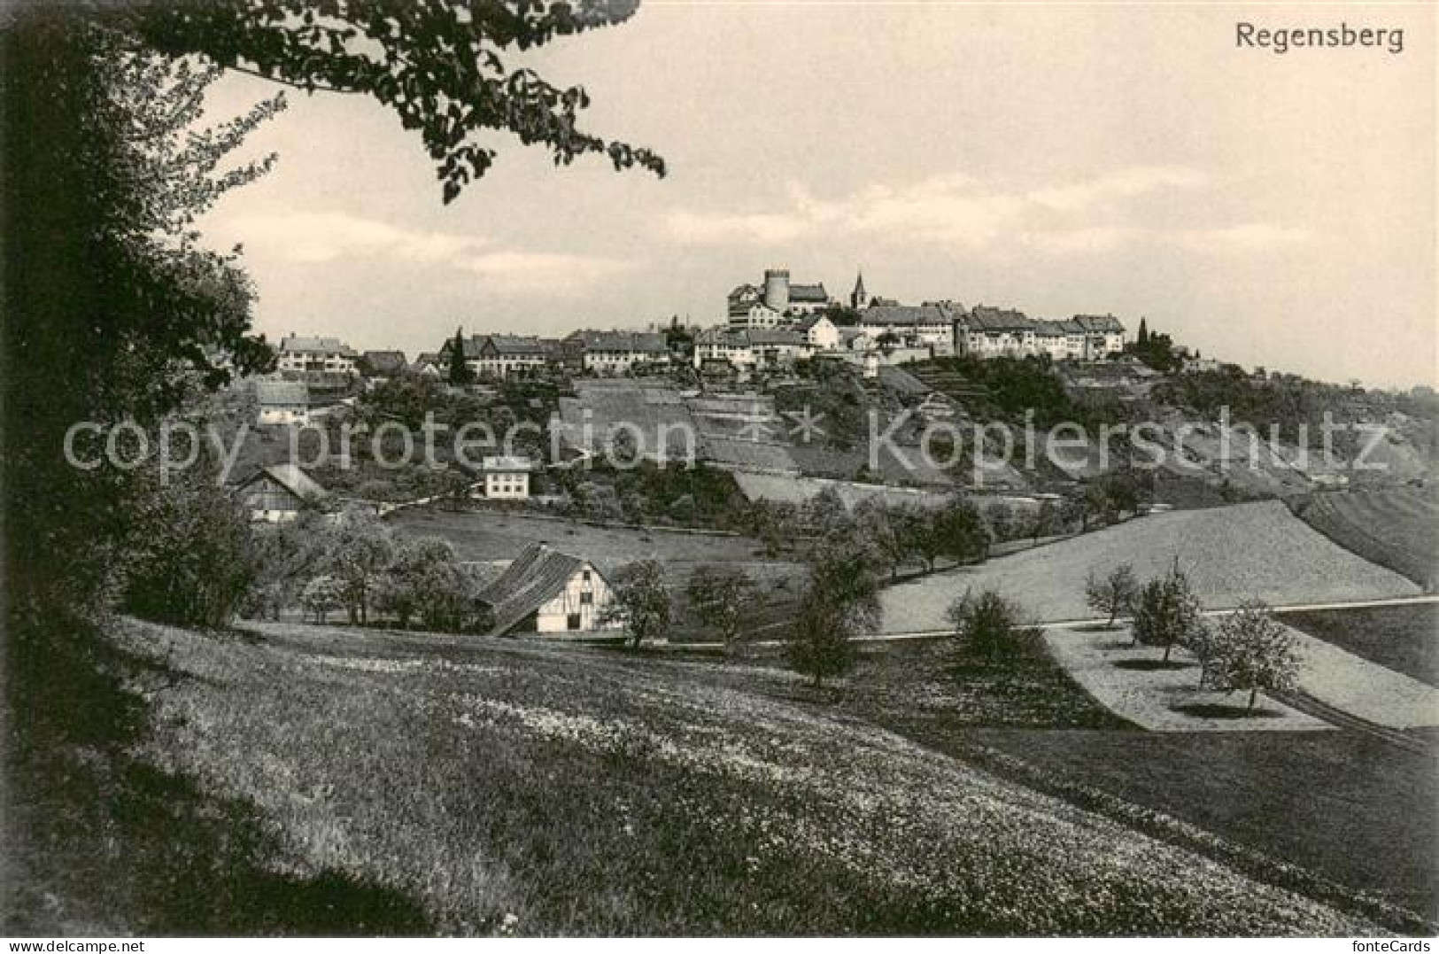
<path fill-rule="evenodd" d="M 1403 52 L 1242 47 L 1236 24 L 1403 29 Z M 1433 4 L 661 3 L 527 62 L 669 176 L 496 137 L 440 203 L 364 96 L 288 94 L 242 243 L 256 327 L 433 351 L 679 315 L 789 268 L 848 296 L 1141 317 L 1207 357 L 1439 383 Z M 517 60 L 518 62 L 518 60 Z M 219 119 L 275 86 L 227 75 Z"/>

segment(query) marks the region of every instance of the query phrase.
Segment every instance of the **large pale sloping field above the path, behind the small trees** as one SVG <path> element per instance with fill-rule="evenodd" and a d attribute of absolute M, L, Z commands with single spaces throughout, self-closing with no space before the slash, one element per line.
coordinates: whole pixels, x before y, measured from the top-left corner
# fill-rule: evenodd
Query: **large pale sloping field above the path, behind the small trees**
<path fill-rule="evenodd" d="M 1092 616 L 1084 599 L 1091 570 L 1121 563 L 1140 578 L 1179 558 L 1207 607 L 1259 597 L 1271 604 L 1413 596 L 1419 587 L 1311 530 L 1278 501 L 1173 511 L 1063 540 L 976 567 L 888 589 L 884 632 L 943 629 L 944 609 L 966 587 L 994 587 L 1038 620 Z"/>

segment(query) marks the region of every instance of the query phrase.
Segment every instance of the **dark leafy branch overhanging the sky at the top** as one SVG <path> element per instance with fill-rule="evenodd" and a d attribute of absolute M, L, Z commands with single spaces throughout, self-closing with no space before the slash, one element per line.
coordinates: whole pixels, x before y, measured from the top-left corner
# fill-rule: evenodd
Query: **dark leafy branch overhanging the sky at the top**
<path fill-rule="evenodd" d="M 104 9 L 106 4 L 95 4 Z M 637 0 L 209 0 L 137 3 L 106 19 L 170 56 L 201 55 L 309 92 L 361 94 L 399 114 L 437 164 L 445 201 L 482 177 L 496 134 L 550 151 L 557 165 L 600 154 L 616 170 L 663 176 L 646 148 L 580 128 L 583 86 L 555 86 L 507 59 L 558 37 L 622 23 Z"/>

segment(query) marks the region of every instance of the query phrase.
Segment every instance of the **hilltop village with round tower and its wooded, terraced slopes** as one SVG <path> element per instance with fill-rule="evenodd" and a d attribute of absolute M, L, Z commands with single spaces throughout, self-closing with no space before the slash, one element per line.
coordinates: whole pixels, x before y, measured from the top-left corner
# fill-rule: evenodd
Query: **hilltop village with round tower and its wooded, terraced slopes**
<path fill-rule="evenodd" d="M 829 482 L 855 499 L 964 491 L 1038 505 L 1122 473 L 1147 505 L 1186 506 L 1379 479 L 1345 469 L 1343 455 L 1337 463 L 1305 453 L 1320 446 L 1330 410 L 1354 427 L 1384 429 L 1389 437 L 1374 449 L 1387 465 L 1384 479 L 1426 472 L 1429 437 L 1403 399 L 1204 358 L 1151 331 L 1143 317 L 1131 335 L 1108 314 L 1052 319 L 957 301 L 901 304 L 872 295 L 863 275 L 840 301 L 822 282 L 796 282 L 778 268 L 730 291 L 724 315 L 709 327 L 673 318 L 563 338 L 458 327 L 413 358 L 289 334 L 271 374 L 232 390 L 252 401 L 246 414 L 260 426 L 245 462 L 294 465 L 308 471 L 311 492 L 322 486 L 376 506 L 458 491 L 577 506 L 576 462 L 593 463 L 623 439 L 661 469 L 684 458 L 725 472 L 750 499 L 802 502 Z M 518 446 L 496 442 L 484 459 L 442 453 L 427 466 L 399 468 L 374 466 L 361 452 L 337 468 L 289 460 L 288 443 L 269 433 L 355 419 L 419 427 L 426 413 L 453 427 L 522 424 Z M 1222 446 L 1223 413 L 1279 430 L 1233 450 Z M 1143 473 L 1131 466 L 1128 442 L 1097 433 L 1138 420 L 1176 449 Z M 1086 433 L 1065 453 L 1038 460 L 1000 459 L 986 445 L 991 437 L 941 455 L 925 443 L 925 429 L 937 424 L 957 433 L 1026 422 L 1068 422 Z M 1338 445 L 1353 458 L 1356 442 L 1351 433 Z M 250 476 L 245 469 L 240 479 Z M 599 488 L 587 505 L 602 506 L 593 501 L 606 498 L 613 481 L 591 475 L 586 483 Z M 635 519 L 671 519 L 655 509 L 629 506 Z M 283 508 L 255 511 L 276 519 Z"/>

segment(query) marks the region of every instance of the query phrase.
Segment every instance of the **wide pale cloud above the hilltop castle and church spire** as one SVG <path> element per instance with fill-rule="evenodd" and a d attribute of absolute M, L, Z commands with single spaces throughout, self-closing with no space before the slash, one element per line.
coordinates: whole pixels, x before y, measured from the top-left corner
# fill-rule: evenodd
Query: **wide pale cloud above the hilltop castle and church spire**
<path fill-rule="evenodd" d="M 1202 190 L 1203 173 L 1174 165 L 1135 165 L 1086 180 L 1040 187 L 987 184 L 940 176 L 904 186 L 871 186 L 820 199 L 790 184 L 766 210 L 679 209 L 658 229 L 686 245 L 783 246 L 845 236 L 894 245 L 935 245 L 964 252 L 1026 249 L 1042 255 L 1098 255 L 1138 243 L 1180 245 L 1202 252 L 1258 252 L 1305 240 L 1307 233 L 1266 223 L 1173 229 L 1145 222 L 1145 197 Z M 1148 203 L 1153 206 L 1154 203 Z"/>

